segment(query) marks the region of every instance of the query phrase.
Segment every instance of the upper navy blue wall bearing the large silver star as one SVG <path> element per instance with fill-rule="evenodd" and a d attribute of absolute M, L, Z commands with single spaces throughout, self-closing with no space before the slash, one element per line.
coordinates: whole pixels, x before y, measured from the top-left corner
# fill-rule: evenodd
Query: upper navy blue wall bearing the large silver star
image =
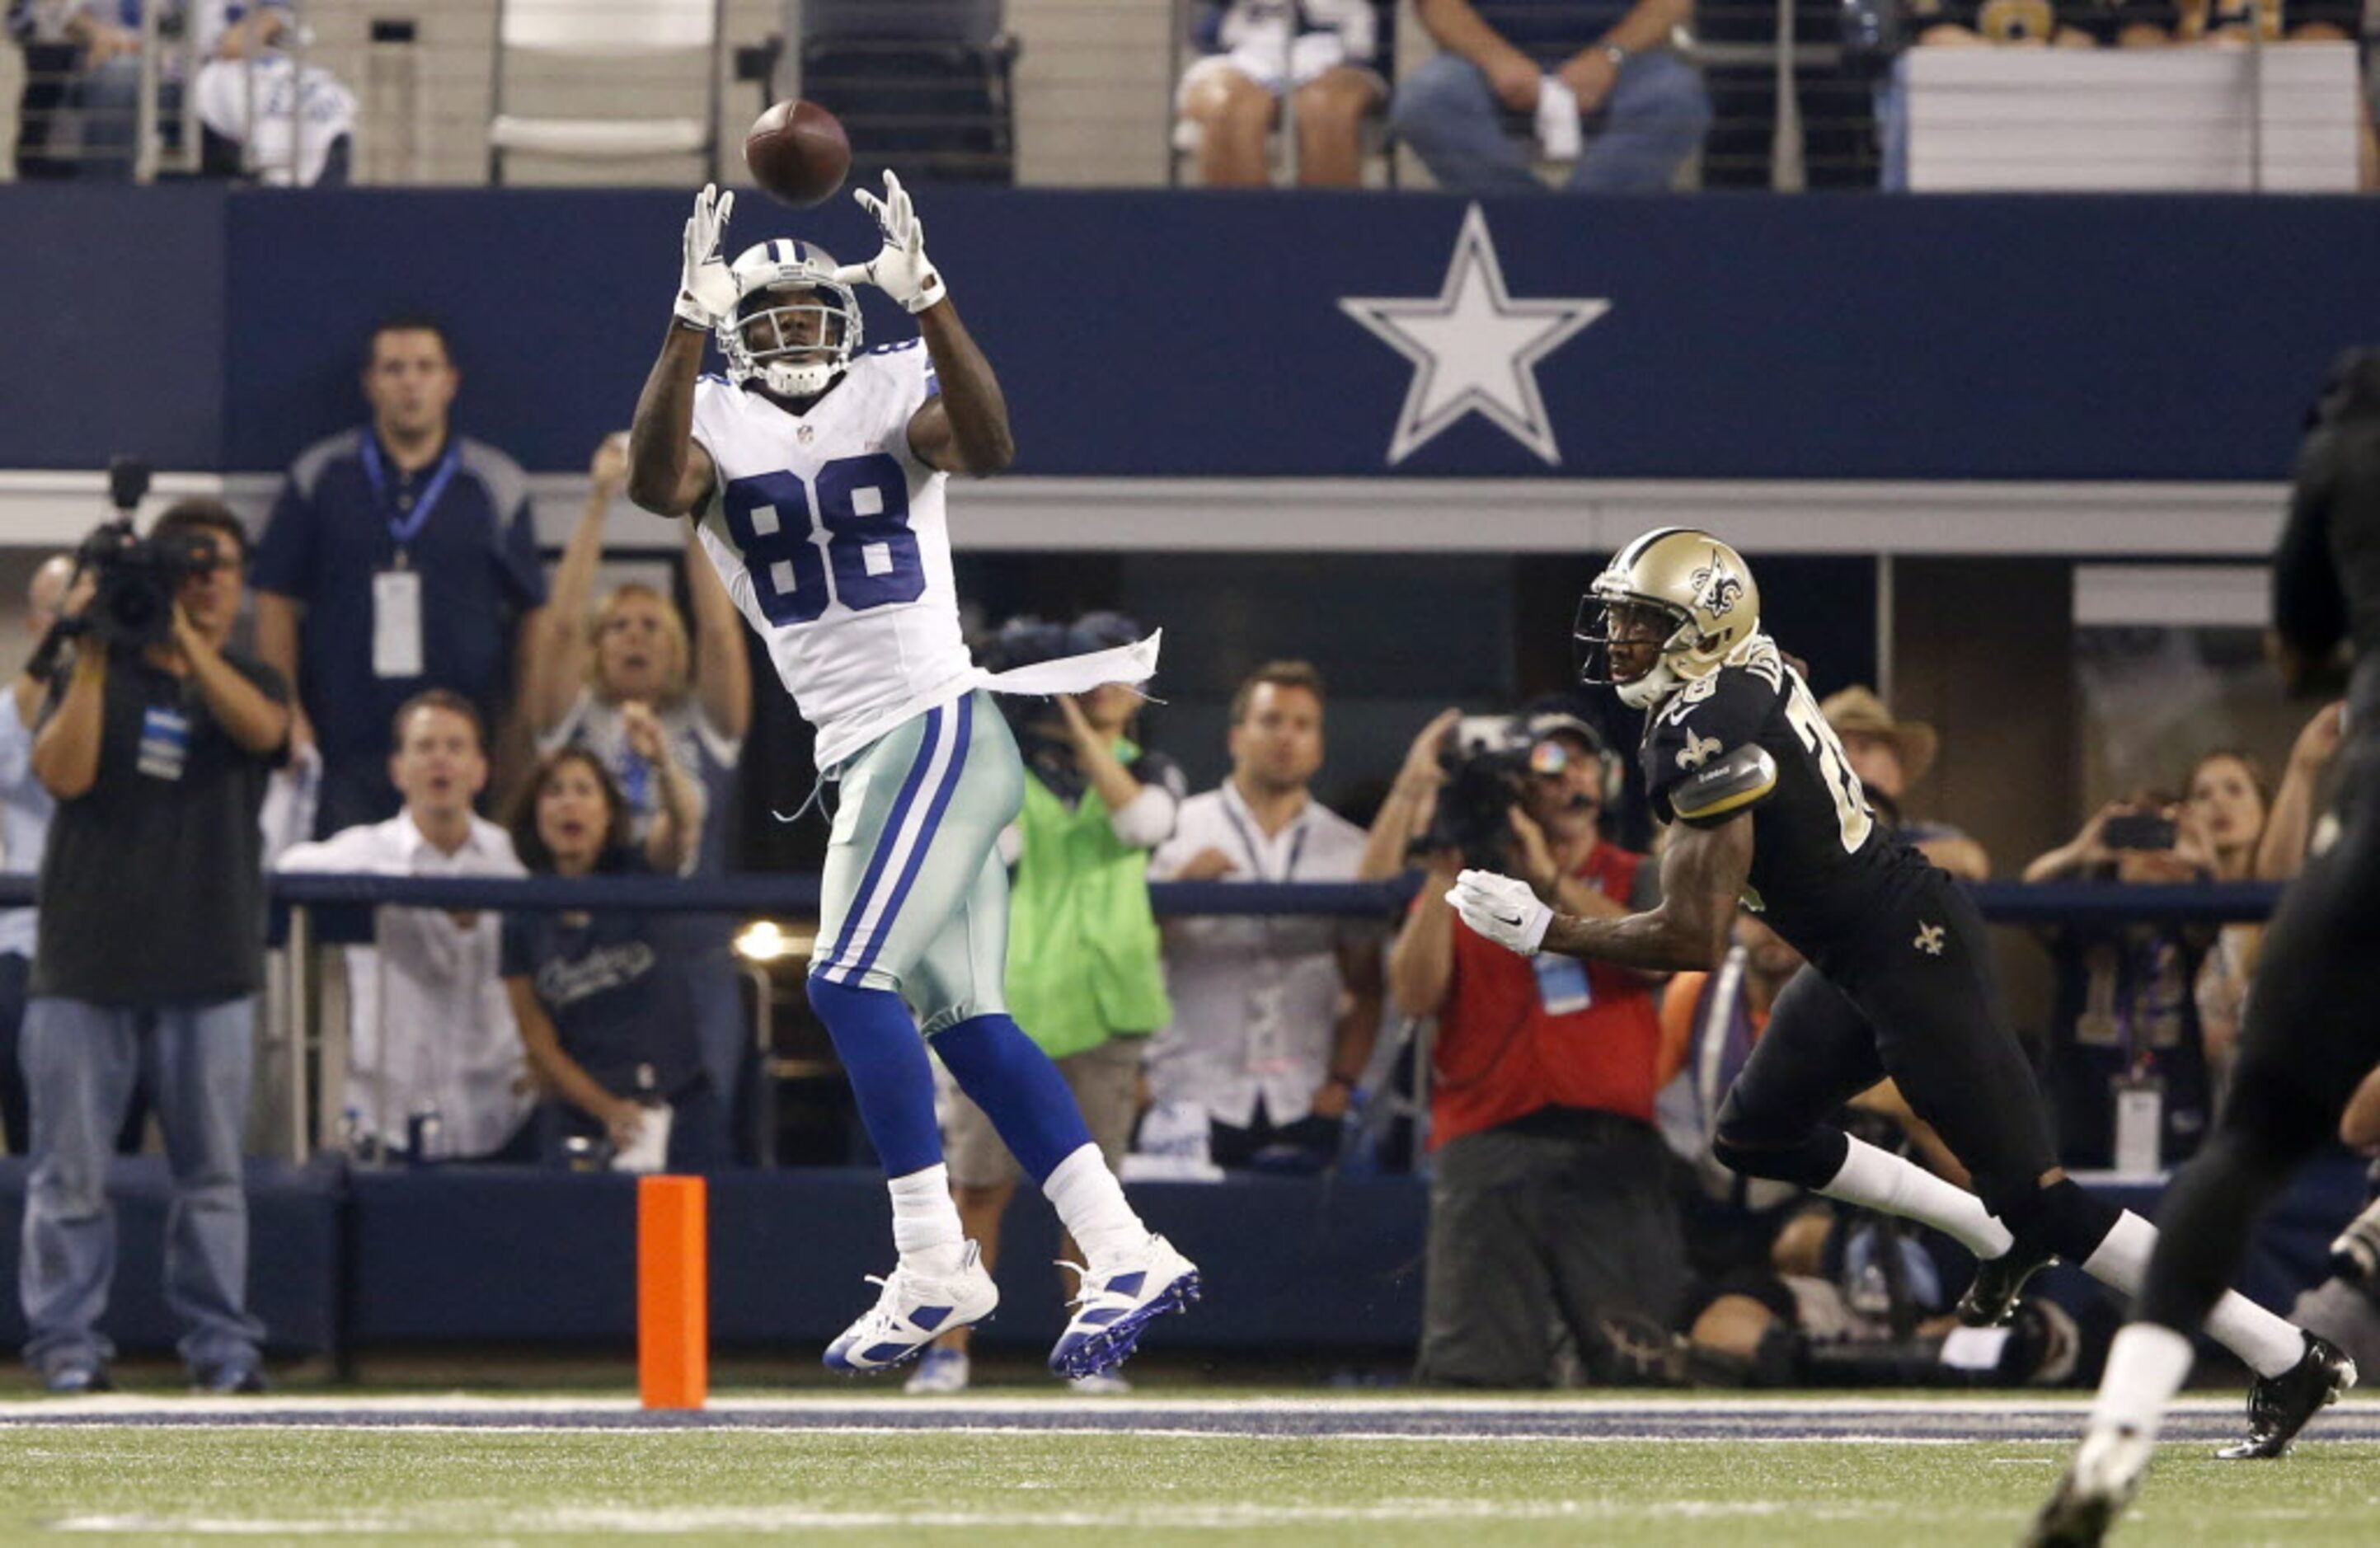
<path fill-rule="evenodd" d="M 1021 473 L 2266 480 L 2328 359 L 2380 338 L 2380 200 L 1490 200 L 1468 247 L 1435 195 L 919 204 Z M 278 468 L 355 419 L 359 333 L 400 307 L 455 323 L 474 433 L 578 468 L 635 402 L 683 214 L 662 190 L 0 190 L 0 468 Z M 738 202 L 733 245 L 785 233 L 873 247 L 847 200 Z M 1535 361 L 1552 459 L 1471 414 L 1390 464 L 1416 369 L 1342 302 L 1426 328 L 1442 292 L 1473 321 L 1592 314 Z M 878 302 L 869 326 L 909 333 Z M 1528 326 L 1464 335 L 1518 352 Z"/>

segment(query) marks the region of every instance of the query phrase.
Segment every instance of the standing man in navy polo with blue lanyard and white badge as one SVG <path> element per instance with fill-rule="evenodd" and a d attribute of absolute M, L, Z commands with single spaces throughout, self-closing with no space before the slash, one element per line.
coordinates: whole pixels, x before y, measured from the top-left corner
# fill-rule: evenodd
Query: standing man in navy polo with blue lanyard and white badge
<path fill-rule="evenodd" d="M 545 602 L 526 476 L 447 421 L 445 331 L 381 323 L 362 385 L 371 423 L 298 454 L 257 542 L 257 654 L 298 685 L 298 737 L 324 761 L 314 837 L 395 816 L 388 728 L 426 687 L 495 732 L 505 789 L 514 642 Z"/>

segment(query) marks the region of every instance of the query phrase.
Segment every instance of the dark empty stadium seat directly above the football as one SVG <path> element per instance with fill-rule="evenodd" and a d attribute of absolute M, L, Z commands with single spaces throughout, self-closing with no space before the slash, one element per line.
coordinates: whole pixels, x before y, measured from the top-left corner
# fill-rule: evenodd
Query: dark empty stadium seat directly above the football
<path fill-rule="evenodd" d="M 852 136 L 852 181 L 1014 183 L 1019 45 L 1002 0 L 804 0 L 802 95 Z"/>

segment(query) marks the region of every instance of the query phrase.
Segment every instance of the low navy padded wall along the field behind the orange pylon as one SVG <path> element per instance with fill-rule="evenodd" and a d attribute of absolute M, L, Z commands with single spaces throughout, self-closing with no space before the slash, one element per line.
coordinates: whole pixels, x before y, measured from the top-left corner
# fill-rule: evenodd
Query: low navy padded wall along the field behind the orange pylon
<path fill-rule="evenodd" d="M 0 1348 L 24 1339 L 17 1296 L 26 1165 L 0 1160 Z M 164 1165 L 119 1160 L 119 1263 L 102 1329 L 124 1348 L 176 1336 L 162 1294 Z M 876 1172 L 797 1168 L 712 1179 L 712 1336 L 721 1346 L 823 1346 L 866 1305 L 885 1267 L 890 1206 Z M 2156 1213 L 2159 1187 L 2109 1187 Z M 333 1346 L 614 1346 L 635 1339 L 635 1184 L 528 1168 L 347 1172 L 250 1163 L 250 1308 L 281 1353 Z M 1176 1348 L 1411 1348 L 1421 1334 L 1428 1184 L 1416 1177 L 1250 1177 L 1133 1184 L 1150 1225 L 1207 1277 Z M 2266 1215 L 2240 1275 L 2287 1308 L 2323 1277 L 2325 1246 L 2363 1201 L 2363 1163 L 2306 1168 Z M 1021 1201 L 1000 1258 L 1000 1320 L 985 1339 L 1050 1344 L 1059 1332 L 1057 1222 Z M 2102 1294 L 2061 1272 L 2078 1313 Z"/>

